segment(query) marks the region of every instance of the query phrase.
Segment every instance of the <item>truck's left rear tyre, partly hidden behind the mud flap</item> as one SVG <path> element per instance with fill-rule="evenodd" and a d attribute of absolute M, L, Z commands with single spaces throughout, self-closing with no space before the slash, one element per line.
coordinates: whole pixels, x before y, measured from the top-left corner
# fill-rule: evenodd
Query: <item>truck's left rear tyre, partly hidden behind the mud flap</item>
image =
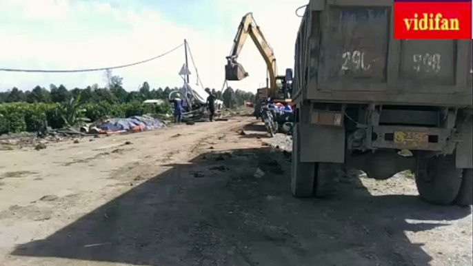
<path fill-rule="evenodd" d="M 314 194 L 315 163 L 301 162 L 301 125 L 292 128 L 291 190 L 296 198 L 308 198 Z"/>

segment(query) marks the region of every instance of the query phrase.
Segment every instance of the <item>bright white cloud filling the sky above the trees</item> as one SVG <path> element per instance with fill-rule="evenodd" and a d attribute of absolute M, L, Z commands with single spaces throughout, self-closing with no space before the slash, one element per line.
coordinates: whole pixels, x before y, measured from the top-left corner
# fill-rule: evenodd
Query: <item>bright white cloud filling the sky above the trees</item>
<path fill-rule="evenodd" d="M 256 22 L 276 54 L 279 72 L 293 68 L 294 42 L 300 18 L 294 10 L 307 0 L 265 1 L 214 0 L 212 8 L 222 16 L 215 20 L 221 28 L 205 32 L 202 27 L 184 27 L 161 17 L 159 10 L 140 6 L 114 6 L 99 1 L 0 0 L 0 16 L 18 17 L 10 24 L 0 23 L 0 68 L 71 69 L 120 65 L 148 59 L 187 39 L 205 86 L 221 88 L 225 56 L 232 46 L 241 17 L 252 11 Z M 26 25 L 28 27 L 25 30 Z M 12 30 L 13 29 L 13 30 Z M 22 29 L 22 30 L 18 30 Z M 190 59 L 189 59 L 190 60 Z M 184 62 L 183 49 L 132 68 L 115 70 L 124 77 L 127 90 L 136 90 L 148 81 L 152 87 L 181 85 L 177 75 Z M 255 91 L 265 83 L 265 64 L 248 38 L 239 62 L 250 76 L 232 82 L 234 88 Z M 192 83 L 194 70 L 190 69 Z M 63 83 L 68 88 L 103 84 L 103 73 L 26 74 L 0 72 L 0 90 L 18 86 L 28 90 L 34 85 L 48 88 L 49 83 Z"/>

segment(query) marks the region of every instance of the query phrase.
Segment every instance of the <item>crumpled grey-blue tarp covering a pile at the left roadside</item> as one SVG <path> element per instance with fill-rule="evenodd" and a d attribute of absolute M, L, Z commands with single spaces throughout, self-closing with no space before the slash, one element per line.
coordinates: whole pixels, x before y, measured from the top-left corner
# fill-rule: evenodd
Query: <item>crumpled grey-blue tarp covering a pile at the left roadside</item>
<path fill-rule="evenodd" d="M 132 116 L 128 119 L 109 119 L 107 122 L 99 125 L 99 129 L 106 131 L 128 131 L 134 126 L 141 125 L 143 130 L 154 130 L 159 127 L 165 127 L 165 124 L 151 116 Z"/>

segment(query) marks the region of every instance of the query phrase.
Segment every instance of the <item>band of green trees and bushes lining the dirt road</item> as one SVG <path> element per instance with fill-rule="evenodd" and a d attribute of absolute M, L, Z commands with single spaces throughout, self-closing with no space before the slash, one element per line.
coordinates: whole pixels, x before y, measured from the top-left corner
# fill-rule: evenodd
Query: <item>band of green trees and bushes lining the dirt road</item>
<path fill-rule="evenodd" d="M 130 117 L 143 114 L 167 114 L 169 103 L 163 105 L 144 104 L 147 99 L 168 99 L 170 92 L 179 88 L 150 89 L 144 82 L 137 91 L 128 92 L 122 87 L 123 78 L 107 72 L 107 88 L 97 84 L 87 88 L 68 90 L 64 85 L 50 85 L 49 90 L 36 86 L 23 92 L 12 88 L 0 92 L 0 134 L 37 132 L 50 126 L 61 128 L 80 125 L 85 121 L 97 121 L 104 117 Z M 237 108 L 244 101 L 252 101 L 254 94 L 227 88 L 223 95 L 212 90 L 223 99 L 227 108 Z"/>

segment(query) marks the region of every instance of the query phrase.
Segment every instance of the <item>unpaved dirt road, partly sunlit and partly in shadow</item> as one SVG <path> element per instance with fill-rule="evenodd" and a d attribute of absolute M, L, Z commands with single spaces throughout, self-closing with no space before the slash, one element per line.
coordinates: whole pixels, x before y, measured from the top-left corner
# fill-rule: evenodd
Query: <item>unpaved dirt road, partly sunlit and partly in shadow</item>
<path fill-rule="evenodd" d="M 470 208 L 403 176 L 292 198 L 290 154 L 252 122 L 0 152 L 0 265 L 472 265 Z"/>

